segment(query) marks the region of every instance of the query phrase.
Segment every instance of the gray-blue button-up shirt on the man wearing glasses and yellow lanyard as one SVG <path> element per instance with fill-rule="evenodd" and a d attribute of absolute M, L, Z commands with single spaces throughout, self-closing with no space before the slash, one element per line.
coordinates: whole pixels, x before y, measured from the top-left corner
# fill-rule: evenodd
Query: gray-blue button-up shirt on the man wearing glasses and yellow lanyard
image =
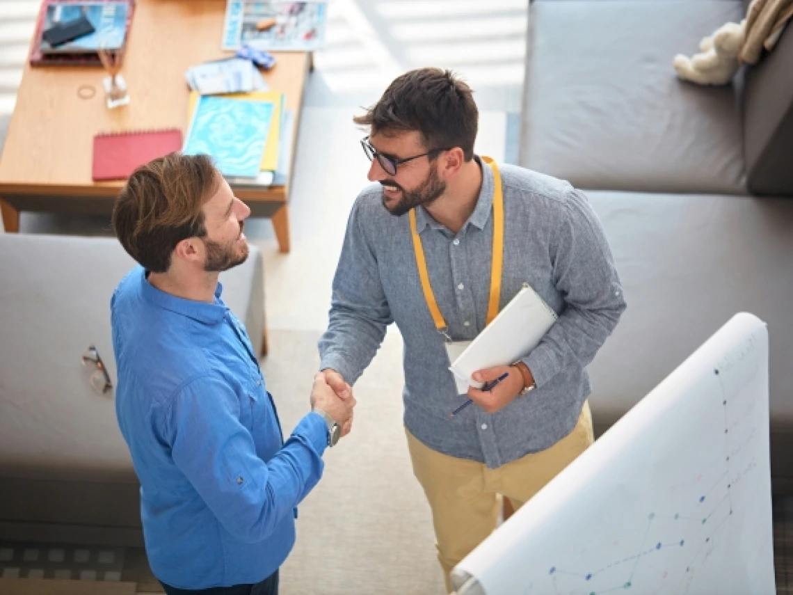
<path fill-rule="evenodd" d="M 488 311 L 493 175 L 490 167 L 481 169 L 477 205 L 458 233 L 416 209 L 432 290 L 455 341 L 473 340 Z M 590 393 L 586 367 L 626 307 L 603 228 L 584 194 L 521 167 L 501 165 L 500 173 L 500 307 L 528 283 L 559 316 L 523 357 L 536 390 L 492 415 L 471 406 L 450 417 L 467 397 L 457 393 L 421 290 L 408 217 L 388 213 L 380 184 L 366 188 L 353 206 L 328 331 L 320 340 L 321 367 L 353 383 L 396 322 L 404 340 L 404 424 L 428 447 L 492 468 L 542 451 L 573 429 Z"/>

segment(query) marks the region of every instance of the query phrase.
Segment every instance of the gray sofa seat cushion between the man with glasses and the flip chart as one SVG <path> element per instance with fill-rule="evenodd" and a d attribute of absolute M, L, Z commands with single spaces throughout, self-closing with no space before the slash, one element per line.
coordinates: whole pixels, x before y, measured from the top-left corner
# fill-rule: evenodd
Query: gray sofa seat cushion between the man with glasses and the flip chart
<path fill-rule="evenodd" d="M 793 438 L 793 202 L 588 192 L 628 304 L 590 367 L 592 412 L 611 424 L 735 313 L 768 323 L 772 443 Z M 793 478 L 789 451 L 773 473 Z"/>

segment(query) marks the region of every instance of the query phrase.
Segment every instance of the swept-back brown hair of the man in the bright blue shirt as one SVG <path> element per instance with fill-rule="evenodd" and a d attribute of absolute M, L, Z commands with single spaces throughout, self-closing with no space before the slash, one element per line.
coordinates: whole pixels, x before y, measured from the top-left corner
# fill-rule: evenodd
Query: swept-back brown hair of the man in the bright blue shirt
<path fill-rule="evenodd" d="M 174 152 L 138 167 L 113 206 L 121 245 L 147 271 L 164 273 L 176 244 L 206 235 L 201 207 L 219 182 L 208 155 Z"/>

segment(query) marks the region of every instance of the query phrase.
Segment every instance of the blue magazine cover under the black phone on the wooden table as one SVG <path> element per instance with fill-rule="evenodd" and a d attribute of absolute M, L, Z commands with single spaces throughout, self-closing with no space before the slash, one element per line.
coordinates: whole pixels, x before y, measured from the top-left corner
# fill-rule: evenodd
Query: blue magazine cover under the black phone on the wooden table
<path fill-rule="evenodd" d="M 121 48 L 124 45 L 127 29 L 128 9 L 127 2 L 52 2 L 47 6 L 43 29 L 85 16 L 90 24 L 94 25 L 94 33 L 67 41 L 56 48 L 52 48 L 47 41 L 41 40 L 41 52 L 74 54 L 96 52 L 99 48 L 110 50 Z"/>

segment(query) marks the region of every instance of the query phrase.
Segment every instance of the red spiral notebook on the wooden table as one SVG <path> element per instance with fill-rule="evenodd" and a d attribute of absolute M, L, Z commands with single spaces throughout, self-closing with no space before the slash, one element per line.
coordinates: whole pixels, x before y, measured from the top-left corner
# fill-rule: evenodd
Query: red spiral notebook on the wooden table
<path fill-rule="evenodd" d="M 91 178 L 95 182 L 122 180 L 151 159 L 181 149 L 182 131 L 178 129 L 98 134 L 94 136 Z"/>

